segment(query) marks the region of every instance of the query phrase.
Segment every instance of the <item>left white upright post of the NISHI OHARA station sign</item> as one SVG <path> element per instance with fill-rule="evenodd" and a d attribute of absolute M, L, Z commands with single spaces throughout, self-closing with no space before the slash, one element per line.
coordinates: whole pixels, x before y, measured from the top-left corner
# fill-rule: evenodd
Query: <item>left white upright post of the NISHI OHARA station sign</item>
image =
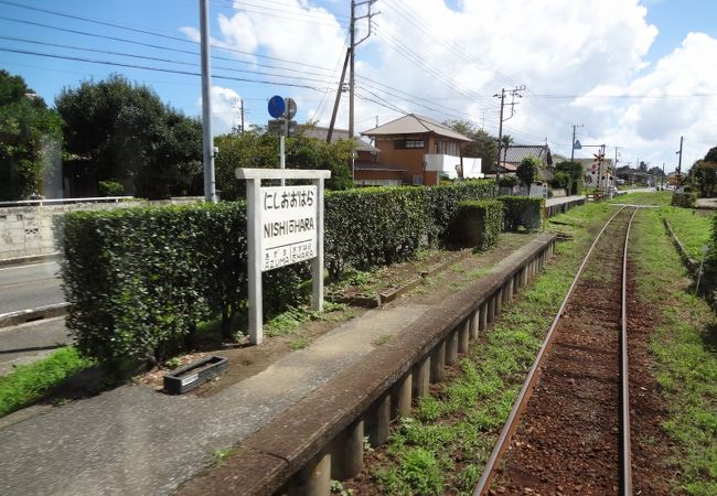
<path fill-rule="evenodd" d="M 264 323 L 261 309 L 261 219 L 258 216 L 260 179 L 247 179 L 246 182 L 246 233 L 247 233 L 247 279 L 249 284 L 249 343 L 261 344 Z"/>

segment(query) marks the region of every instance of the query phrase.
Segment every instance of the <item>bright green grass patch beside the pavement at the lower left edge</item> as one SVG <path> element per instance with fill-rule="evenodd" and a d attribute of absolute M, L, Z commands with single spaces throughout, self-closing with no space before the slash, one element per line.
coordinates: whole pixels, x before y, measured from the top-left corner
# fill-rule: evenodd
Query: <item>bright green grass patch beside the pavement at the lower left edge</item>
<path fill-rule="evenodd" d="M 93 360 L 67 346 L 47 358 L 18 366 L 12 374 L 0 377 L 0 417 L 36 402 L 63 380 L 92 365 Z"/>

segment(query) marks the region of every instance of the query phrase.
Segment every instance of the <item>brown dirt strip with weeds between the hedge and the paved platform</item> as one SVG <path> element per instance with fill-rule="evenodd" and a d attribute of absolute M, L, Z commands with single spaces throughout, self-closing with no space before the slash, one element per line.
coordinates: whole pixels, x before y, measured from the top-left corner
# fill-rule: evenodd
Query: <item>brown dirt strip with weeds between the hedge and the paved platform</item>
<path fill-rule="evenodd" d="M 361 281 L 357 283 L 331 284 L 327 288 L 327 294 L 345 299 L 361 296 L 375 300 L 378 293 L 399 289 L 403 284 L 415 280 L 416 277 L 421 278 L 422 274 L 420 285 L 387 303 L 386 306 L 402 305 L 408 302 L 430 304 L 430 302 L 440 301 L 446 295 L 460 291 L 463 285 L 483 276 L 495 263 L 534 239 L 535 236 L 537 235 L 503 233 L 497 247 L 485 252 L 473 252 L 470 249 L 427 251 L 421 254 L 417 260 L 381 267 L 368 276 L 362 274 Z M 447 261 L 453 263 L 448 263 L 442 270 L 427 274 L 431 269 L 442 266 Z M 225 373 L 189 392 L 197 396 L 211 396 L 260 373 L 280 357 L 291 353 L 297 346 L 310 346 L 312 341 L 351 319 L 361 317 L 366 311 L 365 306 L 346 304 L 341 309 L 324 312 L 320 319 L 303 322 L 298 330 L 287 334 L 265 335 L 265 339 L 259 346 L 249 345 L 245 337 L 238 343 L 224 344 L 213 349 L 178 357 L 173 365 L 183 366 L 208 355 L 227 357 L 228 369 Z M 156 390 L 162 390 L 163 376 L 168 371 L 170 371 L 168 367 L 158 367 L 137 377 L 136 381 Z"/>

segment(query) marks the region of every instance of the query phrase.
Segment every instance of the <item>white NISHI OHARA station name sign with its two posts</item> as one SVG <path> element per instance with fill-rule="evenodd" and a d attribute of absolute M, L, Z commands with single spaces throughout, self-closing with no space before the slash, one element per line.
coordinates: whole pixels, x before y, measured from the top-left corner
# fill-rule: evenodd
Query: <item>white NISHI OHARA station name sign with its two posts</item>
<path fill-rule="evenodd" d="M 249 342 L 261 344 L 261 272 L 311 260 L 314 310 L 323 309 L 323 182 L 331 171 L 236 169 L 246 180 Z M 311 180 L 310 186 L 261 186 L 261 180 Z"/>

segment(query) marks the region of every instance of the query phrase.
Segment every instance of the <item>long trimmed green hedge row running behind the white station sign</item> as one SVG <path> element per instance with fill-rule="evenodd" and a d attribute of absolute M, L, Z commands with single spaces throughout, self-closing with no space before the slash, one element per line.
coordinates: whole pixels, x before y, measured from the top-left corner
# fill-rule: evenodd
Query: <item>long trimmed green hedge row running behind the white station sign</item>
<path fill-rule="evenodd" d="M 325 259 L 333 277 L 410 258 L 443 241 L 458 204 L 493 194 L 492 182 L 331 192 Z M 225 334 L 246 305 L 246 206 L 217 205 L 73 212 L 57 219 L 67 325 L 86 355 L 158 362 L 191 347 L 201 322 Z M 293 304 L 307 263 L 265 272 L 267 313 Z"/>

